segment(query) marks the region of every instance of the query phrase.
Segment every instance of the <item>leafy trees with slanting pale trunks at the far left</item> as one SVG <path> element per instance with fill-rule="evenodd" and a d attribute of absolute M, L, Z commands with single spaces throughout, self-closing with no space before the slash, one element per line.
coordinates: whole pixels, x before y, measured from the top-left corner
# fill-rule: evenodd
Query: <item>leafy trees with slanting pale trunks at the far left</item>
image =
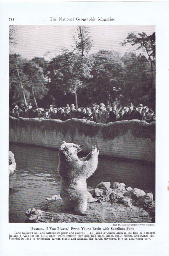
<path fill-rule="evenodd" d="M 22 59 L 20 55 L 9 55 L 9 102 L 24 103 L 23 86 L 25 98 L 28 101 L 42 99 L 47 94 L 45 78 L 41 67 L 35 62 Z M 34 95 L 32 92 L 34 90 Z"/>

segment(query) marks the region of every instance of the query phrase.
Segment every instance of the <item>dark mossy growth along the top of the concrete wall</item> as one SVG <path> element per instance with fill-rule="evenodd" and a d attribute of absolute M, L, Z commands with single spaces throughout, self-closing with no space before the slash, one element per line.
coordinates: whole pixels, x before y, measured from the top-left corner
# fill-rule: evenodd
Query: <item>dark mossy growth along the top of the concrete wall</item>
<path fill-rule="evenodd" d="M 60 131 L 63 136 L 69 133 L 74 136 L 75 132 L 78 131 L 79 135 L 84 134 L 90 138 L 96 136 L 100 130 L 103 139 L 114 139 L 115 137 L 122 136 L 131 130 L 133 136 L 138 138 L 148 138 L 150 140 L 155 140 L 155 122 L 150 124 L 140 121 L 121 121 L 108 124 L 95 123 L 80 119 L 69 119 L 66 121 L 47 119 L 41 120 L 38 118 L 26 119 L 14 117 L 9 117 L 9 125 L 11 128 L 15 129 L 19 126 L 21 129 L 30 127 L 31 129 L 38 129 L 42 132 L 44 131 Z"/>

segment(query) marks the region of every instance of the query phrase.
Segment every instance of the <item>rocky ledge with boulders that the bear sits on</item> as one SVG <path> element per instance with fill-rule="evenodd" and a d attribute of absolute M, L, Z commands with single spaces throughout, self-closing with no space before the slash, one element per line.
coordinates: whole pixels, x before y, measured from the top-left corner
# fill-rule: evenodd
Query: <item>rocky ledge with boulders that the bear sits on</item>
<path fill-rule="evenodd" d="M 124 183 L 101 182 L 88 188 L 97 202 L 88 203 L 90 215 L 79 216 L 67 210 L 60 195 L 29 208 L 26 222 L 33 223 L 151 223 L 155 217 L 152 193 L 126 188 Z M 154 221 L 153 221 L 154 222 Z"/>

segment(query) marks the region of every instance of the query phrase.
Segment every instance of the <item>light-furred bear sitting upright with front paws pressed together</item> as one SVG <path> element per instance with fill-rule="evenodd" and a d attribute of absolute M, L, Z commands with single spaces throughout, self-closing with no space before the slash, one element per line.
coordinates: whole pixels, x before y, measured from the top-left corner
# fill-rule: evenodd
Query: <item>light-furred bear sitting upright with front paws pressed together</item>
<path fill-rule="evenodd" d="M 61 176 L 60 197 L 66 208 L 71 208 L 80 215 L 87 215 L 87 202 L 95 202 L 97 199 L 87 191 L 86 179 L 97 169 L 99 151 L 93 146 L 87 157 L 78 158 L 77 153 L 82 150 L 82 145 L 65 141 L 62 143 L 58 164 Z"/>

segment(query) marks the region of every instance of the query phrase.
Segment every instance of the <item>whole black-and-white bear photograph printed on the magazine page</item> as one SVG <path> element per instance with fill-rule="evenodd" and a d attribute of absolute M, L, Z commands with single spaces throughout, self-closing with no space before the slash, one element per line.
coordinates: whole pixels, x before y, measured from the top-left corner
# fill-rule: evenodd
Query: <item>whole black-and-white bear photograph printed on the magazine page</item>
<path fill-rule="evenodd" d="M 10 25 L 9 223 L 154 223 L 155 120 L 155 26 Z"/>

